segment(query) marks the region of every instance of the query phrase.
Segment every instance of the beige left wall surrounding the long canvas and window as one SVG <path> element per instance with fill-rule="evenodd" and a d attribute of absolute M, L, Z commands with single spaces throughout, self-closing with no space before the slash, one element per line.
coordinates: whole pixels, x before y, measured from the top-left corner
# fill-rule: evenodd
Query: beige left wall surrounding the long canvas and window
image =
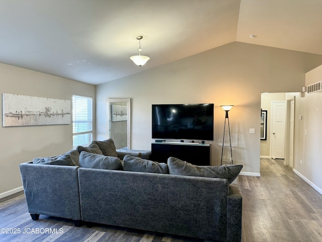
<path fill-rule="evenodd" d="M 2 93 L 65 100 L 71 100 L 72 94 L 79 94 L 92 96 L 95 105 L 94 85 L 5 64 L 0 64 L 0 76 Z M 2 106 L 2 98 L 0 102 Z M 21 190 L 20 163 L 72 149 L 72 125 L 1 126 L 0 137 L 0 198 Z"/>

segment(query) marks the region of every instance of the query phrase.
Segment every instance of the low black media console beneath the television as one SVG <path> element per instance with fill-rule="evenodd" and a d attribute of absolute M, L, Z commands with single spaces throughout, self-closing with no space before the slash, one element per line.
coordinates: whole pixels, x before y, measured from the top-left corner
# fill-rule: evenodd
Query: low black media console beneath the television
<path fill-rule="evenodd" d="M 210 165 L 211 144 L 182 142 L 155 142 L 151 144 L 151 160 L 167 163 L 170 156 L 194 165 Z"/>

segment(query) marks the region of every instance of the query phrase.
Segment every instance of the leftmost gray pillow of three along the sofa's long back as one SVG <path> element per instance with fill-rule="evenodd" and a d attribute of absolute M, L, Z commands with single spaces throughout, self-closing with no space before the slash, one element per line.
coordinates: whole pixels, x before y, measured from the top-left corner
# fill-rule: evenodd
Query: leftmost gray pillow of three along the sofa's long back
<path fill-rule="evenodd" d="M 93 154 L 83 151 L 79 155 L 79 165 L 85 168 L 121 170 L 122 163 L 117 157 Z"/>

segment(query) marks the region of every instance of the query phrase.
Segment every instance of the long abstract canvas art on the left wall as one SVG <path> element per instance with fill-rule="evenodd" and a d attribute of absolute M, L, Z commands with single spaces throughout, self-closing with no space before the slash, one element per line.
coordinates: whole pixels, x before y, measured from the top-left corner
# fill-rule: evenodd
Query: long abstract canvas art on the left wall
<path fill-rule="evenodd" d="M 70 100 L 3 93 L 3 127 L 70 124 Z"/>

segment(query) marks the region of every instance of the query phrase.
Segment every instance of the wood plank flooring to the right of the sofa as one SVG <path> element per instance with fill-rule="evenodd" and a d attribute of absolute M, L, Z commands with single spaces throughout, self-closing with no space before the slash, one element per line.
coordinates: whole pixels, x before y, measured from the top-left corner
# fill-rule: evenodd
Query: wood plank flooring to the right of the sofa
<path fill-rule="evenodd" d="M 261 177 L 238 176 L 244 242 L 322 241 L 322 195 L 283 161 L 261 159 Z"/>

